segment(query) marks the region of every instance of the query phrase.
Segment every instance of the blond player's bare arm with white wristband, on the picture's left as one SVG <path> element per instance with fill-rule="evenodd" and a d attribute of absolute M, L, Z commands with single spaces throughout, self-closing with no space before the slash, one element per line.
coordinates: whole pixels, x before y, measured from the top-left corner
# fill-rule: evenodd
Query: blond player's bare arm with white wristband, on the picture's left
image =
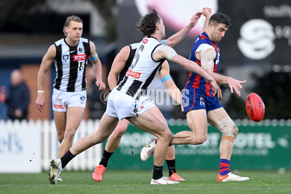
<path fill-rule="evenodd" d="M 37 98 L 35 100 L 36 108 L 42 112 L 43 109 L 46 108 L 46 101 L 45 101 L 45 82 L 46 82 L 46 73 L 49 70 L 50 65 L 52 64 L 53 60 L 56 57 L 56 46 L 51 45 L 43 57 L 41 65 L 39 67 L 39 71 L 37 74 Z"/>

